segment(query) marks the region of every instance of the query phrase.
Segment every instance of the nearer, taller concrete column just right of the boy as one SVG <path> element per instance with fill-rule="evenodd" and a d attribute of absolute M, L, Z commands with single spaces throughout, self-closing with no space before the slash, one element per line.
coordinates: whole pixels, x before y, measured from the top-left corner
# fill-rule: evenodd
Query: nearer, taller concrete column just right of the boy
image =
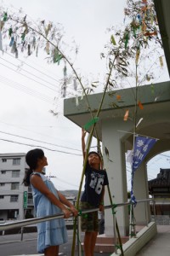
<path fill-rule="evenodd" d="M 122 121 L 122 120 L 121 120 Z M 113 203 L 127 202 L 127 175 L 125 164 L 125 150 L 122 142 L 121 123 L 114 119 L 102 122 L 102 143 L 104 163 L 109 178 L 111 195 L 114 195 Z M 109 150 L 109 156 L 105 154 L 105 147 Z M 107 189 L 105 189 L 105 205 L 111 205 Z M 129 222 L 126 207 L 116 208 L 116 220 L 121 236 L 128 235 Z M 113 236 L 113 218 L 111 210 L 105 210 L 105 235 Z"/>

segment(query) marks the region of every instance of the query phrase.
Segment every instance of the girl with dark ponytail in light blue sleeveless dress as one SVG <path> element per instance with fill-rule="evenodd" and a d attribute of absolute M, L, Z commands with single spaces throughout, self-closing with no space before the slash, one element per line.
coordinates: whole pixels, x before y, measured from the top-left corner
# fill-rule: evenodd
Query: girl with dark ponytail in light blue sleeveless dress
<path fill-rule="evenodd" d="M 43 167 L 48 166 L 47 157 L 42 149 L 36 148 L 26 154 L 30 169 L 26 172 L 24 184 L 31 184 L 34 207 L 37 217 L 64 213 L 77 216 L 77 209 L 64 195 L 54 188 L 54 184 L 43 175 Z M 69 207 L 69 209 L 68 209 Z M 57 218 L 37 224 L 37 251 L 45 256 L 58 256 L 59 245 L 67 242 L 65 220 Z"/>

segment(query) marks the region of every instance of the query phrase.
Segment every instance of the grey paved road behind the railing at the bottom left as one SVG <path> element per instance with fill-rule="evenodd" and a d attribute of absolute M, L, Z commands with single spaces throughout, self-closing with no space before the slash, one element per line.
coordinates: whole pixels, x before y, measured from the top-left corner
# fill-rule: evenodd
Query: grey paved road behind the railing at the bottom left
<path fill-rule="evenodd" d="M 72 230 L 68 230 L 69 241 L 59 247 L 59 255 L 71 256 Z M 20 234 L 0 236 L 0 255 L 38 255 L 37 253 L 37 233 L 24 233 L 23 241 Z M 77 256 L 77 252 L 75 256 Z M 83 255 L 83 254 L 82 254 Z M 81 255 L 81 256 L 82 256 Z M 94 253 L 94 256 L 110 256 L 111 253 Z"/>

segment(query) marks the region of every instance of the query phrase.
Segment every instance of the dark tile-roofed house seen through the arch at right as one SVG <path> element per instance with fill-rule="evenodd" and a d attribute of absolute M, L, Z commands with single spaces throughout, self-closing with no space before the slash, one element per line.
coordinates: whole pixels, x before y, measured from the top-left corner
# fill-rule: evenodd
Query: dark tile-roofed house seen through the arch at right
<path fill-rule="evenodd" d="M 156 201 L 156 215 L 170 215 L 170 169 L 160 169 L 148 185 L 149 193 Z"/>

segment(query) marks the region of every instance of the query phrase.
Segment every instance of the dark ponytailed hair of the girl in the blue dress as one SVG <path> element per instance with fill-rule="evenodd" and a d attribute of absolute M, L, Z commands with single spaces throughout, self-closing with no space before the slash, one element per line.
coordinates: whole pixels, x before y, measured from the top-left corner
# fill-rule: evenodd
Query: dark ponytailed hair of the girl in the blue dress
<path fill-rule="evenodd" d="M 30 169 L 26 169 L 25 177 L 23 179 L 23 183 L 25 186 L 30 185 L 30 176 L 33 170 L 37 168 L 37 160 L 42 159 L 44 157 L 44 153 L 42 149 L 35 148 L 26 154 L 26 164 L 30 167 Z"/>

